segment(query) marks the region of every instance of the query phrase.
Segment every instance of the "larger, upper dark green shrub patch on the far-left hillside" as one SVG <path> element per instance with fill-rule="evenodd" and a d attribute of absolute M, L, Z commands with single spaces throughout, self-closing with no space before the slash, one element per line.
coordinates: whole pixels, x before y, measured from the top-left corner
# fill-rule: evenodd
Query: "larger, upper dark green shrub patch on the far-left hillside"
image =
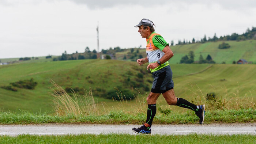
<path fill-rule="evenodd" d="M 14 87 L 19 88 L 26 88 L 33 90 L 35 86 L 37 85 L 37 82 L 34 82 L 34 79 L 31 78 L 30 80 L 19 80 L 18 82 L 10 83 Z"/>

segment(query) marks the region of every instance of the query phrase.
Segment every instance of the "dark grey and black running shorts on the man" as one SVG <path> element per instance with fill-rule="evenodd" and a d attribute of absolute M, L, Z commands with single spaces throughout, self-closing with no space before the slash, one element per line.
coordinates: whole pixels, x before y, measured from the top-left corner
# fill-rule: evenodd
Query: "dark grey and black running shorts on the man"
<path fill-rule="evenodd" d="M 168 90 L 173 89 L 173 72 L 170 65 L 153 72 L 152 76 L 154 81 L 152 84 L 151 92 L 162 94 Z"/>

